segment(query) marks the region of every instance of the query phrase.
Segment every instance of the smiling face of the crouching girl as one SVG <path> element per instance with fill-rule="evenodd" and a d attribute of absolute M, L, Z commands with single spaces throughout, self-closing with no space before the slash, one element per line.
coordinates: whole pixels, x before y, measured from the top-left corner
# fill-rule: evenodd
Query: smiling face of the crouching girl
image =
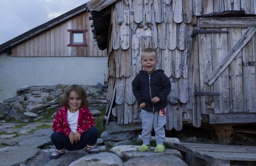
<path fill-rule="evenodd" d="M 78 96 L 74 91 L 70 91 L 68 98 L 69 111 L 75 113 L 82 105 L 82 98 Z"/>

